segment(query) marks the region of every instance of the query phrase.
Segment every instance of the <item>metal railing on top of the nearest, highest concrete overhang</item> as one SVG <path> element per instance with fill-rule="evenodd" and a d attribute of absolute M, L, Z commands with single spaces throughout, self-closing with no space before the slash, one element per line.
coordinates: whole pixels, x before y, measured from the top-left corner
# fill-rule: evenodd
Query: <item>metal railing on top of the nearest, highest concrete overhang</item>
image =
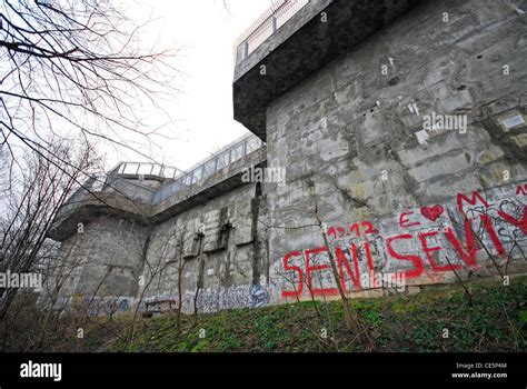
<path fill-rule="evenodd" d="M 245 60 L 266 39 L 300 11 L 309 0 L 277 0 L 236 41 L 237 62 Z"/>

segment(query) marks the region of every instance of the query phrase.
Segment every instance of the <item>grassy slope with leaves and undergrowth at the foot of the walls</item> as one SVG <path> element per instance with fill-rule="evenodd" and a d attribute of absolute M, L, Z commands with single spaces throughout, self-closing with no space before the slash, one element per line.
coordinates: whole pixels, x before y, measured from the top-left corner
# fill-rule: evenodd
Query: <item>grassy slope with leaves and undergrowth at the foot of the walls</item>
<path fill-rule="evenodd" d="M 509 286 L 485 281 L 469 283 L 474 305 L 461 287 L 432 287 L 417 296 L 350 301 L 374 340 L 374 351 L 526 351 L 527 277 Z M 317 306 L 321 318 L 315 309 Z M 71 318 L 70 318 L 71 320 Z M 122 336 L 130 316 L 91 319 L 84 338 L 77 322 L 61 321 L 60 336 L 47 345 L 53 351 L 366 351 L 342 321 L 342 302 L 300 302 L 259 309 L 233 309 L 181 317 L 140 319 L 135 338 Z M 69 322 L 69 325 L 67 325 Z M 448 330 L 448 337 L 445 336 Z M 18 333 L 19 340 L 28 336 Z M 11 343 L 11 348 L 17 348 Z M 20 345 L 19 345 L 20 346 Z M 20 348 L 18 348 L 20 349 Z"/>

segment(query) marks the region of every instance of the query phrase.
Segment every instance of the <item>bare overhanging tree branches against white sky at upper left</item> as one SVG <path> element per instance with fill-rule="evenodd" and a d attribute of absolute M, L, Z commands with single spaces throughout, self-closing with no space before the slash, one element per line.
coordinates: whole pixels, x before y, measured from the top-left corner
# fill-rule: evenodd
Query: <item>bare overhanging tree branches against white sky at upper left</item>
<path fill-rule="evenodd" d="M 0 144 L 12 163 L 17 148 L 52 151 L 48 133 L 97 138 L 148 157 L 157 132 L 137 111 L 151 104 L 159 112 L 177 71 L 171 51 L 140 49 L 140 27 L 110 1 L 2 1 Z M 48 158 L 63 166 L 59 154 Z"/>

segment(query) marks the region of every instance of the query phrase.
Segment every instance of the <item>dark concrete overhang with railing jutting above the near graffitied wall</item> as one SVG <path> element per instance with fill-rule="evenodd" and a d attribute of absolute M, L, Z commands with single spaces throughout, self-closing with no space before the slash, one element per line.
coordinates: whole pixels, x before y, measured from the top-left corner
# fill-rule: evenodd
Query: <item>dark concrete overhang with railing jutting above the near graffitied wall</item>
<path fill-rule="evenodd" d="M 237 59 L 235 119 L 265 141 L 269 102 L 419 1 L 311 0 L 247 58 Z"/>

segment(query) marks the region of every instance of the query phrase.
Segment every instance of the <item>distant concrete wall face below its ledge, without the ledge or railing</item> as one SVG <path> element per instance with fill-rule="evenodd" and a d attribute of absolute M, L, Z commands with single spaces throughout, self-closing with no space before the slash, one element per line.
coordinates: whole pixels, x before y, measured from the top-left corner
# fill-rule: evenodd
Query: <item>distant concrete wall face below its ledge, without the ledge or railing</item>
<path fill-rule="evenodd" d="M 269 266 L 257 223 L 266 203 L 259 190 L 257 183 L 243 184 L 153 226 L 115 215 L 80 225 L 62 241 L 59 272 L 46 290 L 52 295 L 66 280 L 56 308 L 83 303 L 95 315 L 178 301 L 179 280 L 186 312 L 195 309 L 198 280 L 200 311 L 267 305 L 260 281 L 266 283 L 268 272 L 260 269 Z"/>

